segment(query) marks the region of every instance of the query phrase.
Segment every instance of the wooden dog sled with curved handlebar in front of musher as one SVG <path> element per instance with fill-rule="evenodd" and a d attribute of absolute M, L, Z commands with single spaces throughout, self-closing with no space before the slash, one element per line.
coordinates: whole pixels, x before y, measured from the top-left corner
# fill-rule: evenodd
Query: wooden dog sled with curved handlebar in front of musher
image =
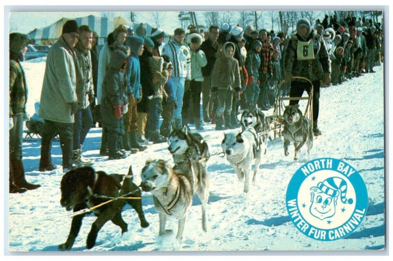
<path fill-rule="evenodd" d="M 309 94 L 309 96 L 303 96 L 303 97 L 282 97 L 282 95 L 280 94 L 280 90 L 281 90 L 283 84 L 286 83 L 286 81 L 283 80 L 279 84 L 278 90 L 277 90 L 276 104 L 275 104 L 275 107 L 273 110 L 273 115 L 267 116 L 268 118 L 271 118 L 270 129 L 273 130 L 273 132 L 274 132 L 274 139 L 281 138 L 281 135 L 282 135 L 282 130 L 284 127 L 283 113 L 285 111 L 285 106 L 286 106 L 284 104 L 285 101 L 307 100 L 307 105 L 306 105 L 303 115 L 305 117 L 307 117 L 309 119 L 310 123 L 312 124 L 312 95 L 313 95 L 312 83 L 308 78 L 305 78 L 305 77 L 293 76 L 292 79 L 300 79 L 300 80 L 307 81 L 311 85 L 310 94 Z"/>

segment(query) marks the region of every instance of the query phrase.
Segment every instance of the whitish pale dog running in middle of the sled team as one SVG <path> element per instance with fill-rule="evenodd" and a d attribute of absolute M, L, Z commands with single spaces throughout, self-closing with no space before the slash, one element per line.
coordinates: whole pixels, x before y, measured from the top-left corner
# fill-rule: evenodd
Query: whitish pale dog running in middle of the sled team
<path fill-rule="evenodd" d="M 250 171 L 252 161 L 255 159 L 255 169 L 253 184 L 255 184 L 256 174 L 259 169 L 262 152 L 266 151 L 266 144 L 262 142 L 262 137 L 258 136 L 255 129 L 249 127 L 239 133 L 224 133 L 224 140 L 221 147 L 226 154 L 226 159 L 235 169 L 239 180 L 244 180 L 244 192 L 249 192 Z"/>

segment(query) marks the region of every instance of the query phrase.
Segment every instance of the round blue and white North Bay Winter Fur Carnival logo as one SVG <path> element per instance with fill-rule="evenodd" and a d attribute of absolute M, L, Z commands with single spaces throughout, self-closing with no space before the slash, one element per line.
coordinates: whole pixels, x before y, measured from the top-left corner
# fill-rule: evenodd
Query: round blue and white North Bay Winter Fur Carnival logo
<path fill-rule="evenodd" d="M 292 176 L 286 209 L 306 236 L 333 241 L 354 232 L 367 210 L 365 182 L 349 164 L 334 158 L 307 162 Z"/>

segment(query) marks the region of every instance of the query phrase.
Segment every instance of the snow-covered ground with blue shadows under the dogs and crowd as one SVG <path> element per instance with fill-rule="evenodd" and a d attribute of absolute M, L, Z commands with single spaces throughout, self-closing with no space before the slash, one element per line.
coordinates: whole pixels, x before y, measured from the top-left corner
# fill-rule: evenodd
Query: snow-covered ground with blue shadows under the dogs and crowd
<path fill-rule="evenodd" d="M 28 113 L 34 113 L 39 101 L 45 62 L 23 63 L 29 86 Z M 321 89 L 318 126 L 322 136 L 314 140 L 310 157 L 303 149 L 300 159 L 293 161 L 283 155 L 282 140 L 268 143 L 256 184 L 243 194 L 243 183 L 237 180 L 225 158 L 212 156 L 208 161 L 210 198 L 208 232 L 201 229 L 201 208 L 197 198 L 188 215 L 182 251 L 279 251 L 279 250 L 378 250 L 385 248 L 385 176 L 384 176 L 384 82 L 383 66 L 376 73 L 366 74 L 346 83 Z M 272 110 L 266 115 L 272 114 Z M 191 128 L 193 129 L 193 127 Z M 211 153 L 221 151 L 223 131 L 207 124 L 200 132 Z M 94 168 L 107 173 L 126 174 L 133 166 L 135 183 L 140 183 L 140 171 L 148 158 L 173 162 L 168 145 L 150 145 L 147 150 L 122 160 L 107 161 L 99 155 L 101 129 L 90 130 L 84 143 L 84 155 L 94 160 Z M 37 190 L 24 194 L 9 194 L 9 250 L 58 251 L 71 225 L 71 217 L 60 206 L 59 184 L 61 150 L 58 140 L 53 143 L 55 171 L 37 171 L 40 139 L 25 139 L 23 161 L 28 181 L 41 184 Z M 294 172 L 314 158 L 334 157 L 353 166 L 363 177 L 368 191 L 367 215 L 360 227 L 344 239 L 321 242 L 299 232 L 285 208 L 285 193 Z M 94 216 L 84 218 L 81 231 L 71 251 L 165 251 L 173 250 L 174 235 L 158 237 L 159 219 L 150 193 L 143 193 L 143 210 L 150 226 L 142 229 L 136 212 L 130 207 L 123 211 L 129 232 L 121 235 L 119 227 L 108 222 L 98 233 L 96 246 L 86 250 L 87 233 Z M 60 218 L 59 218 L 60 217 Z M 177 220 L 169 218 L 167 228 L 177 232 Z"/>

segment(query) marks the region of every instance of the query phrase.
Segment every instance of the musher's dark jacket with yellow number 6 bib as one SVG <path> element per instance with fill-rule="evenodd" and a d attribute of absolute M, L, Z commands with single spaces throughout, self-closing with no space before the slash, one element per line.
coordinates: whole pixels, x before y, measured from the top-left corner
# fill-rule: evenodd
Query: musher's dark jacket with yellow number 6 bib
<path fill-rule="evenodd" d="M 309 50 L 312 46 L 312 50 Z M 291 34 L 284 56 L 284 71 L 310 81 L 322 80 L 324 73 L 331 73 L 330 59 L 325 41 L 316 30 L 309 30 L 305 38 L 297 32 Z"/>

